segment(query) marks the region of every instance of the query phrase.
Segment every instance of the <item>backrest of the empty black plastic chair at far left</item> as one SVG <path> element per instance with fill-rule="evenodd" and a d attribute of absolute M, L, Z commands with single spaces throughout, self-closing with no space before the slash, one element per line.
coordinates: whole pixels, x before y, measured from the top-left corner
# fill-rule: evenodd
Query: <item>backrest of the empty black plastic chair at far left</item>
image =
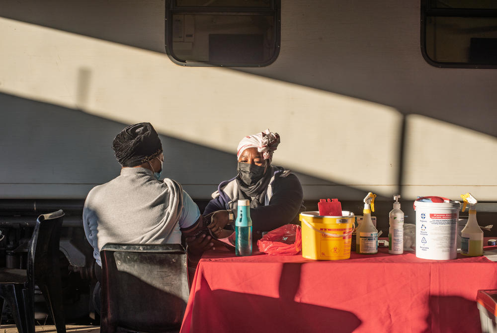
<path fill-rule="evenodd" d="M 29 287 L 60 272 L 59 243 L 64 212 L 40 215 L 31 236 L 28 251 L 27 275 Z"/>

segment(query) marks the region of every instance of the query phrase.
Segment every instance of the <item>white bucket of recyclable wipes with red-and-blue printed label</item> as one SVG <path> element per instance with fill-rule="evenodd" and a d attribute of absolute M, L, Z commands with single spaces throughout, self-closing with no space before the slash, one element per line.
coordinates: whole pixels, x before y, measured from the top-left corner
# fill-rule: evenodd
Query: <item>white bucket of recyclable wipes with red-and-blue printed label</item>
<path fill-rule="evenodd" d="M 418 258 L 448 260 L 457 257 L 457 221 L 461 203 L 440 199 L 441 202 L 414 201 Z"/>

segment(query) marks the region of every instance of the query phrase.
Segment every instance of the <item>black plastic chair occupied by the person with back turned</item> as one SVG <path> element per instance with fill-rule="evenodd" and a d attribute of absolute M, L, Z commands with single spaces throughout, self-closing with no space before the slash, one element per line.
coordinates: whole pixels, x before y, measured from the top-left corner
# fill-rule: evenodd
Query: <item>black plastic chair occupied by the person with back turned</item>
<path fill-rule="evenodd" d="M 179 332 L 189 295 L 180 244 L 106 244 L 100 257 L 100 333 Z"/>

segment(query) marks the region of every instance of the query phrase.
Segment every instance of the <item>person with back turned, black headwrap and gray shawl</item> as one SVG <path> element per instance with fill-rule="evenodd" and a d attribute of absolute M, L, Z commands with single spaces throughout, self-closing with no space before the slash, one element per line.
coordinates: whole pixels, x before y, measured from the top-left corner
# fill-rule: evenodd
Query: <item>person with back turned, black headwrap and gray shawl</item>
<path fill-rule="evenodd" d="M 181 244 L 205 227 L 197 205 L 176 181 L 159 180 L 162 144 L 150 123 L 131 125 L 114 138 L 121 174 L 93 187 L 83 208 L 83 228 L 100 279 L 100 250 L 107 243 Z M 215 224 L 213 224 L 215 228 Z M 211 237 L 186 238 L 189 253 L 212 249 Z"/>

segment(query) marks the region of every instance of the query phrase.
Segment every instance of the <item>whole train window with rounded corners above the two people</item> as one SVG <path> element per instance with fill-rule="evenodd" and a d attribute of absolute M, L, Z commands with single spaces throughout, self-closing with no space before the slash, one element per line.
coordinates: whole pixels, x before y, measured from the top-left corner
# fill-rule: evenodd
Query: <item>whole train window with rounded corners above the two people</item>
<path fill-rule="evenodd" d="M 168 0 L 166 52 L 183 66 L 261 67 L 280 46 L 280 0 Z"/>

